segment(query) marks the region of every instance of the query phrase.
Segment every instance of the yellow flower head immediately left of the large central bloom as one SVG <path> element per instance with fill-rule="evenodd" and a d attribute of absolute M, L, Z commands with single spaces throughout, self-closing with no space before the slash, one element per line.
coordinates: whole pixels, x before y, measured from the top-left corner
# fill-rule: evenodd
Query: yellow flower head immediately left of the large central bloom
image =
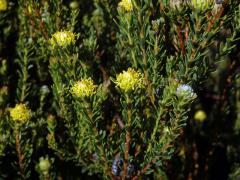
<path fill-rule="evenodd" d="M 97 86 L 91 78 L 77 81 L 71 88 L 71 93 L 76 97 L 89 97 L 96 93 Z"/>

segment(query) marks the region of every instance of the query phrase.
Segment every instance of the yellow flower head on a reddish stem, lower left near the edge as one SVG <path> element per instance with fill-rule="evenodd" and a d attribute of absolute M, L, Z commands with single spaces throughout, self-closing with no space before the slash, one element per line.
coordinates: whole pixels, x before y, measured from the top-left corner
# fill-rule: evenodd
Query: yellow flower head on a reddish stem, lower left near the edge
<path fill-rule="evenodd" d="M 10 116 L 14 121 L 24 123 L 31 117 L 31 111 L 25 104 L 17 104 L 14 108 L 10 109 Z"/>

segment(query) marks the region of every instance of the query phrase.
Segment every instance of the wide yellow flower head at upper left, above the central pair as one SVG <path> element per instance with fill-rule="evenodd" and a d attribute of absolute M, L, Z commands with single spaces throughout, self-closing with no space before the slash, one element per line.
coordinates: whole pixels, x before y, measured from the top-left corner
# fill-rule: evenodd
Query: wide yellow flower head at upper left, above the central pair
<path fill-rule="evenodd" d="M 50 44 L 55 46 L 67 47 L 75 43 L 75 34 L 71 31 L 58 31 L 52 35 Z"/>

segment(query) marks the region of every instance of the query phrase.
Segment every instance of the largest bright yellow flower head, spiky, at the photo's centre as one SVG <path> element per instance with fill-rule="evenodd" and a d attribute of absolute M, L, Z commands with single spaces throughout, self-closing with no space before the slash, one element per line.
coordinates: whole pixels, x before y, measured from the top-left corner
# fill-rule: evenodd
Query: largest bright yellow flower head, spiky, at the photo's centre
<path fill-rule="evenodd" d="M 140 72 L 137 72 L 132 68 L 128 68 L 127 71 L 123 71 L 117 75 L 115 83 L 123 91 L 127 92 L 136 88 L 142 88 L 143 77 Z"/>

